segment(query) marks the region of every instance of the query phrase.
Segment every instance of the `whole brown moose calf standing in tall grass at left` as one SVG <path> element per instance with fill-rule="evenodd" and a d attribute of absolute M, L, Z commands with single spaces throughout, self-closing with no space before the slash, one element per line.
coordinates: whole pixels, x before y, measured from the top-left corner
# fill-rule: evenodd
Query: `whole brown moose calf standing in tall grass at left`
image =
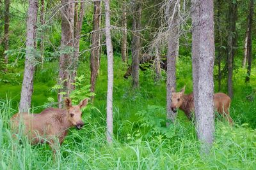
<path fill-rule="evenodd" d="M 22 132 L 31 144 L 47 142 L 55 152 L 56 139 L 61 145 L 70 127 L 83 127 L 81 108 L 87 103 L 88 99 L 84 99 L 77 106 L 72 106 L 71 99 L 65 98 L 66 109 L 47 108 L 38 114 L 17 113 L 11 118 L 12 129 L 17 133 L 19 125 L 24 125 Z"/>

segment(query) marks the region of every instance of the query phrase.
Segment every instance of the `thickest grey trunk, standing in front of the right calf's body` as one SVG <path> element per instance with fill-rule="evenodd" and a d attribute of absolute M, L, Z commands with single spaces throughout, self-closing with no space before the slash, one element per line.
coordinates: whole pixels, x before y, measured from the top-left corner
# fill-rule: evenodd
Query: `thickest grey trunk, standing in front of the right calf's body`
<path fill-rule="evenodd" d="M 198 3 L 198 4 L 196 4 Z M 195 98 L 195 106 L 198 107 L 196 116 L 196 133 L 202 142 L 201 152 L 209 153 L 214 141 L 214 106 L 213 106 L 213 67 L 214 67 L 214 13 L 213 0 L 199 0 L 192 2 L 193 38 L 195 45 L 198 45 L 199 55 L 197 57 L 198 94 Z M 197 13 L 197 14 L 196 14 Z M 198 24 L 196 26 L 196 24 Z M 195 47 L 195 46 L 193 46 Z M 193 52 L 195 52 L 193 48 Z M 194 63 L 193 63 L 194 64 Z M 194 75 L 194 74 L 193 74 Z M 195 86 L 195 84 L 194 84 Z M 195 96 L 194 96 L 195 97 Z M 197 103 L 197 104 L 196 104 Z"/>

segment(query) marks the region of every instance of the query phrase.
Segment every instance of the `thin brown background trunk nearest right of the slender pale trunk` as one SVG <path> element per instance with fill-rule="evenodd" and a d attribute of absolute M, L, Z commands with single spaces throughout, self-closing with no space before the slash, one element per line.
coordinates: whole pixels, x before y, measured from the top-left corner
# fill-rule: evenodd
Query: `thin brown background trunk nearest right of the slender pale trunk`
<path fill-rule="evenodd" d="M 122 62 L 127 62 L 127 19 L 126 4 L 122 5 Z"/>

